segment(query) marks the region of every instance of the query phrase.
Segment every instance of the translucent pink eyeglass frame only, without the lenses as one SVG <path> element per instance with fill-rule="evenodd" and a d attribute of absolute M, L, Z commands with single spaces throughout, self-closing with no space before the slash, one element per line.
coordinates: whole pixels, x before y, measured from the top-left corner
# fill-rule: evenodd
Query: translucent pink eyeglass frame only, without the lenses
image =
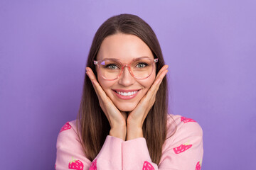
<path fill-rule="evenodd" d="M 152 74 L 152 72 L 153 72 L 153 70 L 154 70 L 154 67 L 155 67 L 155 64 L 154 64 L 154 63 L 158 62 L 158 58 L 151 59 L 151 58 L 149 58 L 149 57 L 139 57 L 139 58 L 136 58 L 136 59 L 132 60 L 132 62 L 134 62 L 135 60 L 141 59 L 141 58 L 147 58 L 147 59 L 149 59 L 149 60 L 152 61 L 151 64 L 153 64 L 153 69 L 152 69 L 151 73 L 150 73 L 149 76 L 148 76 L 148 77 L 150 77 L 151 74 Z M 107 59 L 97 60 L 97 61 L 96 61 L 96 60 L 93 60 L 93 63 L 94 63 L 95 65 L 97 65 L 97 67 L 99 68 L 99 72 L 100 72 L 100 63 L 102 63 L 102 62 L 105 61 L 105 60 L 115 60 L 116 62 L 119 62 L 119 60 L 114 59 L 114 58 L 110 58 L 110 59 L 107 58 Z M 116 79 L 118 79 L 118 78 L 122 75 L 122 72 L 124 71 L 124 67 L 127 67 L 129 73 L 132 75 L 132 77 L 134 77 L 134 74 L 132 73 L 132 70 L 131 70 L 131 67 L 130 67 L 130 64 L 132 64 L 132 62 L 129 62 L 129 64 L 123 64 L 122 62 L 119 62 L 119 63 L 122 65 L 122 69 L 121 69 L 121 72 L 119 73 L 118 77 L 115 78 L 115 79 L 106 79 L 106 78 L 102 75 L 101 72 L 100 72 L 100 75 L 101 75 L 102 78 L 105 79 L 105 80 L 109 80 L 109 81 L 116 80 Z M 146 78 L 148 78 L 148 77 L 145 77 L 145 78 L 143 78 L 143 79 L 146 79 Z M 138 79 L 138 78 L 134 77 L 134 79 Z"/>

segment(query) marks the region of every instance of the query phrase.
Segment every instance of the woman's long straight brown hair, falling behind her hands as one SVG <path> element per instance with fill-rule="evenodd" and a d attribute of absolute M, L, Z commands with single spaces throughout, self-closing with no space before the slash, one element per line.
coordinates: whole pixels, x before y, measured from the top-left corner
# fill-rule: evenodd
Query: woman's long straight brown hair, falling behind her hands
<path fill-rule="evenodd" d="M 164 66 L 164 58 L 161 52 L 159 41 L 156 38 L 151 27 L 139 18 L 132 14 L 121 14 L 112 16 L 107 19 L 95 33 L 92 40 L 92 46 L 87 57 L 87 67 L 90 67 L 97 77 L 95 64 L 93 60 L 97 56 L 102 41 L 109 35 L 116 33 L 124 33 L 136 35 L 143 40 L 151 49 L 154 58 L 158 58 L 156 63 L 156 74 L 161 67 Z M 152 162 L 159 164 L 162 154 L 162 147 L 166 140 L 167 134 L 167 115 L 168 115 L 168 85 L 166 77 L 164 77 L 159 90 L 156 94 L 156 101 L 149 111 L 143 124 L 143 135 L 146 139 L 146 145 L 149 149 L 149 154 Z M 85 155 L 91 161 L 95 159 L 100 152 L 105 138 L 110 132 L 110 123 L 105 114 L 100 108 L 95 90 L 92 83 L 85 74 L 85 80 L 82 91 L 82 99 L 78 113 L 78 128 L 80 128 L 80 140 L 84 149 Z"/>

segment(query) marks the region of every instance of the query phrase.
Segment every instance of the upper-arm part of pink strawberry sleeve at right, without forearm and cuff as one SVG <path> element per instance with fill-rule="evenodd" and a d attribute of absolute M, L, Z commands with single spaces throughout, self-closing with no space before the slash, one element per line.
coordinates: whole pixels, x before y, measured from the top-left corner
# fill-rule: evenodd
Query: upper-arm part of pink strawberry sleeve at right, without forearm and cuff
<path fill-rule="evenodd" d="M 178 117 L 177 130 L 166 140 L 159 169 L 200 170 L 203 161 L 203 130 L 195 120 Z"/>

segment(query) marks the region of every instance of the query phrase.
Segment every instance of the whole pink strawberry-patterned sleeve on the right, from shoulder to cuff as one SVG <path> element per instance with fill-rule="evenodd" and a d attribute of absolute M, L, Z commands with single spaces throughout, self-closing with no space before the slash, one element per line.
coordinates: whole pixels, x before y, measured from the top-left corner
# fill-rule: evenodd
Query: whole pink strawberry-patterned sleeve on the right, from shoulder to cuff
<path fill-rule="evenodd" d="M 178 124 L 175 135 L 166 140 L 159 165 L 151 162 L 143 137 L 122 143 L 123 169 L 201 169 L 203 131 L 195 121 Z"/>

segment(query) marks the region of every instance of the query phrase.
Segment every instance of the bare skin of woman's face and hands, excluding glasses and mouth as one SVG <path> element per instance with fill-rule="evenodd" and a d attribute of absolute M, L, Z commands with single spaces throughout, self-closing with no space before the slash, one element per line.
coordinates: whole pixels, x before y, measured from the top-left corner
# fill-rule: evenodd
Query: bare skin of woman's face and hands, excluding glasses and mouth
<path fill-rule="evenodd" d="M 134 58 L 147 56 L 154 58 L 149 47 L 137 36 L 117 33 L 103 40 L 97 55 L 97 60 L 115 58 L 128 64 Z M 86 68 L 86 74 L 92 81 L 100 107 L 110 123 L 110 135 L 122 140 L 133 140 L 143 137 L 142 125 L 154 105 L 156 92 L 162 79 L 167 74 L 168 65 L 164 65 L 156 75 L 153 71 L 147 79 L 139 80 L 132 77 L 127 67 L 122 75 L 112 81 L 105 80 L 100 74 Z M 98 70 L 97 70 L 98 72 Z M 137 96 L 122 100 L 114 95 L 112 89 L 140 89 Z"/>

